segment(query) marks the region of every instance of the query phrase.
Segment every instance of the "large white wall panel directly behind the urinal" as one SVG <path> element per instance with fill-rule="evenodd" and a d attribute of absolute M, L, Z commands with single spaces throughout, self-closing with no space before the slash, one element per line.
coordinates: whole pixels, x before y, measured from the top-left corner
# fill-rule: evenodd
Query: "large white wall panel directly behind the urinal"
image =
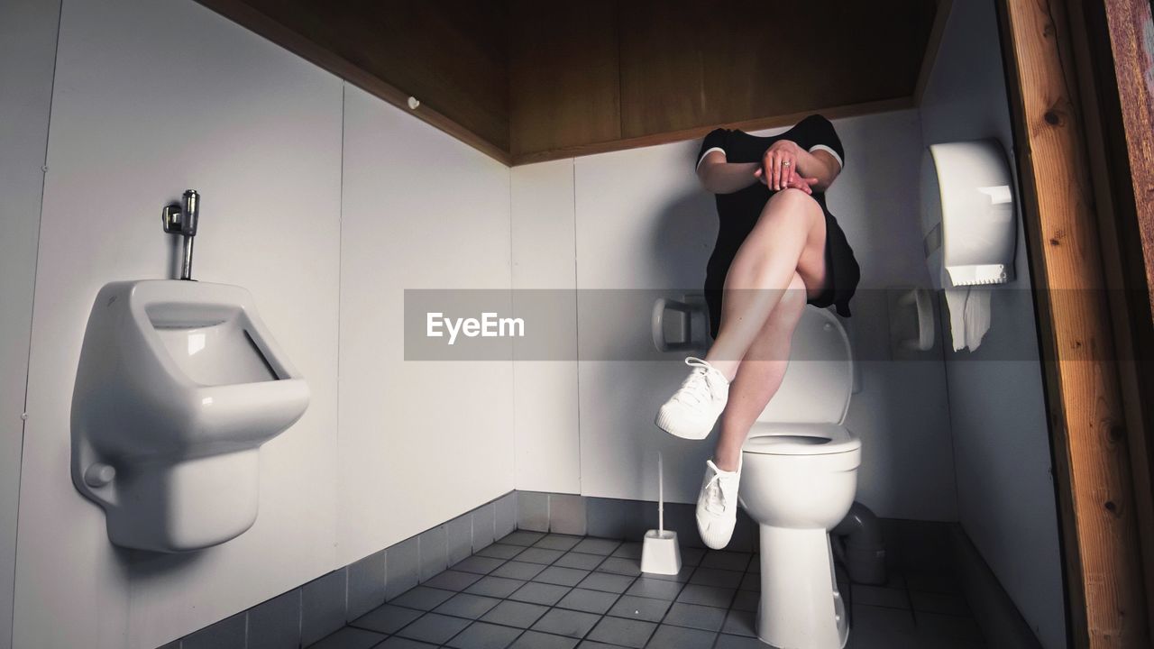
<path fill-rule="evenodd" d="M 67 0 L 47 165 L 15 646 L 150 648 L 336 567 L 340 82 L 194 2 Z M 189 187 L 194 277 L 252 291 L 312 402 L 262 450 L 254 528 L 159 557 L 73 487 L 69 410 L 97 290 L 170 276 Z"/>

